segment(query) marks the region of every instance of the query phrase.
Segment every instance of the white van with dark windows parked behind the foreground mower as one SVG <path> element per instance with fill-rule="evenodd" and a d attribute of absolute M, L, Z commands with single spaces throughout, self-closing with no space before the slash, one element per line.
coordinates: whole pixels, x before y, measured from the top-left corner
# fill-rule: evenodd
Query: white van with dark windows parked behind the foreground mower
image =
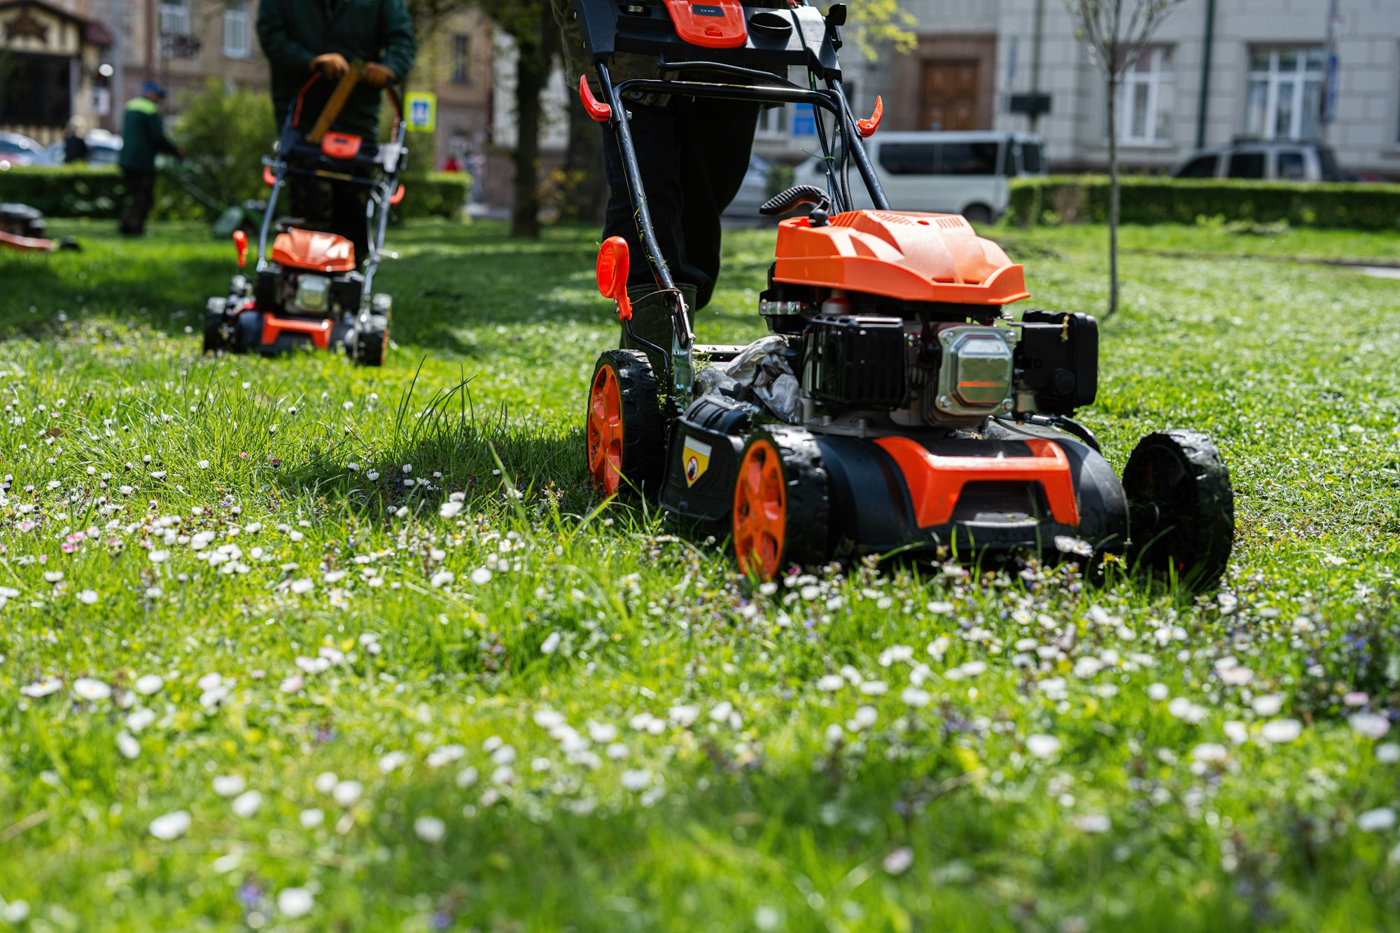
<path fill-rule="evenodd" d="M 962 214 L 976 223 L 1000 217 L 1015 175 L 1044 175 L 1044 137 L 1030 133 L 875 133 L 865 140 L 875 174 L 895 210 Z M 797 184 L 826 188 L 819 160 L 798 167 Z M 855 207 L 874 207 L 851 165 Z"/>

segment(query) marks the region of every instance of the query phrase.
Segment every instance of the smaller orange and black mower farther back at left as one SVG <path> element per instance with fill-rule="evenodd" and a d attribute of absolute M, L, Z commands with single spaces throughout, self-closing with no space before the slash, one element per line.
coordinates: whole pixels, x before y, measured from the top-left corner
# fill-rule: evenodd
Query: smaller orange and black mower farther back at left
<path fill-rule="evenodd" d="M 358 136 L 329 130 L 358 80 L 358 69 L 340 78 L 321 116 L 309 132 L 301 127 L 301 105 L 307 91 L 321 80 L 314 76 L 277 140 L 272 158 L 265 158 L 263 179 L 272 185 L 258 233 L 258 262 L 253 280 L 235 275 L 225 297 L 210 298 L 204 311 L 204 352 L 262 353 L 343 347 L 351 359 L 381 366 L 389 342 L 388 294 L 371 289 L 379 268 L 384 233 L 391 205 L 403 199 L 399 172 L 407 160 L 403 147 L 403 104 L 399 92 L 385 87 L 393 102 L 391 141 L 375 144 Z M 277 217 L 277 202 L 288 179 L 323 179 L 363 186 L 368 256 L 356 256 L 354 245 L 335 233 L 309 230 L 298 219 Z M 337 192 L 332 192 L 337 196 Z M 276 228 L 272 249 L 269 234 Z M 248 255 L 248 237 L 232 233 L 238 268 Z M 363 262 L 361 262 L 363 259 Z"/>

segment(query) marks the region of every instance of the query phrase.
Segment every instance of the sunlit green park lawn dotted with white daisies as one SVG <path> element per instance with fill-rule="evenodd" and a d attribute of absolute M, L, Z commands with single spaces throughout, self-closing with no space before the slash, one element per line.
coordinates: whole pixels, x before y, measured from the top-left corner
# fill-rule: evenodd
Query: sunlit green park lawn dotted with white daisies
<path fill-rule="evenodd" d="M 601 503 L 594 231 L 393 231 L 382 370 L 200 359 L 199 227 L 56 233 L 0 255 L 0 927 L 1400 926 L 1400 289 L 1242 255 L 1394 235 L 1124 233 L 1082 416 L 1117 468 L 1218 440 L 1236 552 L 1193 601 L 756 590 Z M 991 233 L 1033 304 L 1102 307 L 1102 228 Z M 729 237 L 703 340 L 762 333 L 770 255 Z"/>

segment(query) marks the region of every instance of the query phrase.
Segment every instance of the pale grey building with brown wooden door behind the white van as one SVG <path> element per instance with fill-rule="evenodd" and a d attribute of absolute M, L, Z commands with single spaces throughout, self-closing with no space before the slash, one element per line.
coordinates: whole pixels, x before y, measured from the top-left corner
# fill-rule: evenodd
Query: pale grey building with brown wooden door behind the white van
<path fill-rule="evenodd" d="M 1107 164 L 1103 78 L 1061 0 L 900 6 L 917 48 L 846 57 L 857 109 L 881 94 L 888 129 L 1035 130 L 1053 168 Z M 1130 67 L 1117 125 L 1130 168 L 1256 136 L 1326 140 L 1344 168 L 1400 178 L 1400 3 L 1184 0 Z"/>

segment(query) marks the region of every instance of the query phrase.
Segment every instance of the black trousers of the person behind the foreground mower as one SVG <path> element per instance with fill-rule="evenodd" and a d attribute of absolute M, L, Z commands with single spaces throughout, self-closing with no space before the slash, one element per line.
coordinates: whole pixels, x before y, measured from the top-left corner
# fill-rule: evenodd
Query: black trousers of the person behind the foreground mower
<path fill-rule="evenodd" d="M 672 97 L 664 106 L 629 105 L 633 144 L 661 254 L 678 284 L 697 290 L 696 307 L 714 294 L 720 275 L 720 214 L 749 171 L 759 105 Z M 603 237 L 622 237 L 631 249 L 630 286 L 655 277 L 637 235 L 616 133 L 605 127 L 608 214 Z"/>

